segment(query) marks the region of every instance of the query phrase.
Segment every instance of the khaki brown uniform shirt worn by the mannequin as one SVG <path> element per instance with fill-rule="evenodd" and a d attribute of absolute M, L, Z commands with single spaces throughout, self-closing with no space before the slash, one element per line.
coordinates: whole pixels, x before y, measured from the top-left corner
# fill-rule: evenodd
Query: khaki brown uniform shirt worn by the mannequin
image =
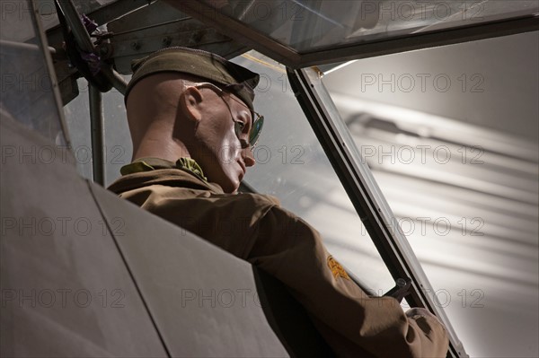
<path fill-rule="evenodd" d="M 192 160 L 144 159 L 122 172 L 111 191 L 275 276 L 339 356 L 446 356 L 446 329 L 436 318 L 407 317 L 393 298 L 369 297 L 319 233 L 277 199 L 225 194 Z"/>

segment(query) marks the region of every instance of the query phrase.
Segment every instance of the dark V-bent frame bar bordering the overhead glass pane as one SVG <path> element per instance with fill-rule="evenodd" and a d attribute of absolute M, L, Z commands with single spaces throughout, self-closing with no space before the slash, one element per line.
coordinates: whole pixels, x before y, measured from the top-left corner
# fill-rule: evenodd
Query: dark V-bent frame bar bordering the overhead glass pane
<path fill-rule="evenodd" d="M 232 39 L 244 43 L 293 69 L 539 30 L 539 16 L 530 15 L 462 26 L 454 29 L 402 35 L 391 39 L 342 46 L 340 48 L 299 53 L 293 48 L 287 47 L 271 39 L 269 36 L 252 29 L 245 23 L 219 13 L 208 4 L 193 1 L 163 1 L 176 7 L 181 12 L 188 13 L 190 16 L 199 19 L 201 22 L 214 26 L 217 30 L 226 33 Z"/>

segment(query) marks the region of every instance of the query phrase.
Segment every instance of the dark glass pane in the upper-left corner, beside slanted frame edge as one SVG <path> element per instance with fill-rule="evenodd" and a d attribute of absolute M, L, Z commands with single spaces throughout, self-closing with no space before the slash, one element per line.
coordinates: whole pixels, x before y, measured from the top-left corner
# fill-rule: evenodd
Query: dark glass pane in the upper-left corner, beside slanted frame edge
<path fill-rule="evenodd" d="M 0 63 L 0 109 L 56 144 L 65 144 L 49 68 L 27 2 L 2 2 Z"/>

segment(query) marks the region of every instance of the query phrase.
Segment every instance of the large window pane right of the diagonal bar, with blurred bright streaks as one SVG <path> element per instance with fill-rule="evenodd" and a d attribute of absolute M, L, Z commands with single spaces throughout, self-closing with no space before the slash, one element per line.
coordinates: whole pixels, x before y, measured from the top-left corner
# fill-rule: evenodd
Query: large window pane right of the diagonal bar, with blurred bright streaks
<path fill-rule="evenodd" d="M 361 59 L 323 77 L 471 356 L 538 352 L 538 39 Z M 442 77 L 452 85 L 433 85 Z M 508 321 L 521 327 L 510 342 Z"/>

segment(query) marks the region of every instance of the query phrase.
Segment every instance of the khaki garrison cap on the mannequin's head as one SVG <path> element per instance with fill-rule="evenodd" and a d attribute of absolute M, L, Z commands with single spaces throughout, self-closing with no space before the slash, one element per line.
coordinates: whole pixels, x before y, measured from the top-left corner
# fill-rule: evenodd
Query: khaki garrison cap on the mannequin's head
<path fill-rule="evenodd" d="M 131 68 L 133 77 L 126 90 L 126 102 L 133 86 L 144 77 L 161 72 L 180 72 L 228 86 L 227 92 L 234 93 L 254 111 L 253 90 L 259 83 L 259 75 L 211 52 L 194 48 L 163 48 L 147 57 L 132 61 Z"/>

